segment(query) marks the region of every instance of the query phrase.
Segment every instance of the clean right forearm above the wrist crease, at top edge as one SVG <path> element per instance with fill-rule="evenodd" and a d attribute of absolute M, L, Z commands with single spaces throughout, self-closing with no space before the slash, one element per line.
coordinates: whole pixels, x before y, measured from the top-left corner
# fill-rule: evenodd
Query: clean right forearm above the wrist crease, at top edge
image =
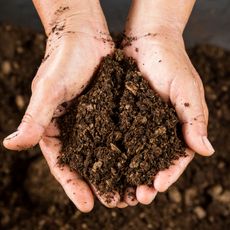
<path fill-rule="evenodd" d="M 126 34 L 161 33 L 181 37 L 195 0 L 133 0 Z"/>

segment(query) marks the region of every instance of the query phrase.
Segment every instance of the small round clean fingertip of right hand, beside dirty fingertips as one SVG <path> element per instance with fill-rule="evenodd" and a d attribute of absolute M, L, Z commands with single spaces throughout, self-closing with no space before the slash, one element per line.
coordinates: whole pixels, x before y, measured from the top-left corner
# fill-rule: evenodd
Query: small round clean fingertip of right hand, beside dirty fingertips
<path fill-rule="evenodd" d="M 136 190 L 137 200 L 141 204 L 150 204 L 157 195 L 157 191 L 154 187 L 149 187 L 148 185 L 140 185 Z"/>

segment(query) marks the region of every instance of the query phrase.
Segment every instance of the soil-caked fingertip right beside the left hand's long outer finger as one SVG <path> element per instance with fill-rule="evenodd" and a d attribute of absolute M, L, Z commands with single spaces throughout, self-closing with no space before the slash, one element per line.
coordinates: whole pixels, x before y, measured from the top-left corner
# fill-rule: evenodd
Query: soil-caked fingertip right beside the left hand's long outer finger
<path fill-rule="evenodd" d="M 120 202 L 120 195 L 118 192 L 101 194 L 94 185 L 91 185 L 91 188 L 97 196 L 98 200 L 107 208 L 115 208 Z"/>

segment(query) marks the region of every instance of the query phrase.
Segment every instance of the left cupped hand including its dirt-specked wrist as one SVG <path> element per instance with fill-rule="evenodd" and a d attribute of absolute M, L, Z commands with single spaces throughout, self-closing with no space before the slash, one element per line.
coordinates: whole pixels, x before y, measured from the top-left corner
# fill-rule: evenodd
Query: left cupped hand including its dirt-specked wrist
<path fill-rule="evenodd" d="M 87 86 L 102 57 L 113 52 L 114 44 L 98 6 L 91 9 L 88 5 L 81 10 L 71 7 L 56 7 L 50 21 L 46 21 L 50 13 L 44 17 L 40 9 L 48 35 L 45 57 L 32 82 L 32 96 L 22 122 L 15 133 L 5 138 L 4 146 L 22 150 L 39 142 L 52 174 L 73 203 L 88 212 L 94 205 L 93 193 L 79 175 L 58 166 L 61 146 L 55 138 L 55 119 L 51 120 L 64 112 L 64 102 L 71 101 Z M 109 205 L 116 206 L 118 200 L 114 203 Z"/>

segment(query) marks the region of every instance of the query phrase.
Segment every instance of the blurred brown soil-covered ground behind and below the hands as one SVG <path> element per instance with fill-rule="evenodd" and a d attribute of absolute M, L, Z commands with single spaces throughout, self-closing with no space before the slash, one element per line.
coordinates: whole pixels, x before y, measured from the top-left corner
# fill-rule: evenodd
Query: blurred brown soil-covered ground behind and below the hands
<path fill-rule="evenodd" d="M 1 141 L 23 116 L 44 45 L 43 35 L 0 26 Z M 197 156 L 149 206 L 119 210 L 97 202 L 91 213 L 82 214 L 53 179 L 38 148 L 11 152 L 1 144 L 0 229 L 230 229 L 230 52 L 201 45 L 189 53 L 205 85 L 214 156 Z"/>

